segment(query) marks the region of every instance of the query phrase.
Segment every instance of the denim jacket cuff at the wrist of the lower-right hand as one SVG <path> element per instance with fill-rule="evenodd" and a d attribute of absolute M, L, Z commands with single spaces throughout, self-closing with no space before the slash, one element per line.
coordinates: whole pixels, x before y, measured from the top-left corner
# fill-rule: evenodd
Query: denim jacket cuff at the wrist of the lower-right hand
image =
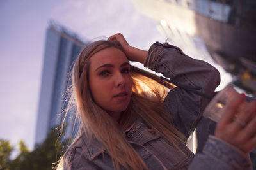
<path fill-rule="evenodd" d="M 203 153 L 231 166 L 232 169 L 248 169 L 252 166 L 249 157 L 246 157 L 236 147 L 216 138 L 216 136 L 209 136 Z"/>

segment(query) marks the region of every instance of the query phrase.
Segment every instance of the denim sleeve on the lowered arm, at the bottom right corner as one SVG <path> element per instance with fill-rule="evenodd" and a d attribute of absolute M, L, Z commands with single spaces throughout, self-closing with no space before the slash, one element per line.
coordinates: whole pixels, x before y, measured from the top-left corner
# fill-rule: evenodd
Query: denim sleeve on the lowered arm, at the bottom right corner
<path fill-rule="evenodd" d="M 189 165 L 189 170 L 226 170 L 252 169 L 249 156 L 246 157 L 237 148 L 215 136 L 209 136 L 202 153 L 199 153 Z"/>

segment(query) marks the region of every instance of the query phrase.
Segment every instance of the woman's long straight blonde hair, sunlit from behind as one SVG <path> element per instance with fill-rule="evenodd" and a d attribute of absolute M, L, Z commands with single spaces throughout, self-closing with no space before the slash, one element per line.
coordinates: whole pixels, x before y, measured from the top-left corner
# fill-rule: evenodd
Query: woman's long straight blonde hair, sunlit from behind
<path fill-rule="evenodd" d="M 180 144 L 184 143 L 185 138 L 170 124 L 170 113 L 163 108 L 164 97 L 167 94 L 166 87 L 173 89 L 174 86 L 155 74 L 131 66 L 133 81 L 131 102 L 118 124 L 93 101 L 88 83 L 90 57 L 109 47 L 115 47 L 124 52 L 118 41 L 95 41 L 87 45 L 79 54 L 72 70 L 70 87 L 72 96 L 67 112 L 74 103 L 77 110 L 76 119 L 81 119 L 77 138 L 86 135 L 89 140 L 95 138 L 100 141 L 111 156 L 115 169 L 120 169 L 120 165 L 126 169 L 148 169 L 140 155 L 124 138 L 123 132 L 136 117 L 140 116 L 165 141 L 180 150 Z M 61 162 L 58 167 L 61 167 Z"/>

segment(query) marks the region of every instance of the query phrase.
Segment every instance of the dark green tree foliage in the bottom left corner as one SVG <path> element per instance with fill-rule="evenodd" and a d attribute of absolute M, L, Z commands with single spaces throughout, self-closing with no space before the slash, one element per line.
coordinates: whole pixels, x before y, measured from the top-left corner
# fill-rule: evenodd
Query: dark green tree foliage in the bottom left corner
<path fill-rule="evenodd" d="M 0 169 L 29 170 L 52 169 L 61 155 L 67 149 L 65 141 L 61 142 L 59 134 L 52 130 L 45 141 L 35 146 L 35 150 L 29 152 L 23 141 L 19 143 L 20 154 L 10 160 L 13 147 L 8 141 L 1 140 L 0 145 Z"/>

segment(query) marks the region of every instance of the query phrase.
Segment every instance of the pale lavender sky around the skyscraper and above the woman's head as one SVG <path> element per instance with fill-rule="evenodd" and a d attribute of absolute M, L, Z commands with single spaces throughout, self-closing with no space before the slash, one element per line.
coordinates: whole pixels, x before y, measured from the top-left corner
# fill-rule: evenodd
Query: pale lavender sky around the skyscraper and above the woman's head
<path fill-rule="evenodd" d="M 166 41 L 156 22 L 136 11 L 131 0 L 1 0 L 0 139 L 12 145 L 23 140 L 30 149 L 49 20 L 89 41 L 118 32 L 143 50 L 155 41 Z"/>

